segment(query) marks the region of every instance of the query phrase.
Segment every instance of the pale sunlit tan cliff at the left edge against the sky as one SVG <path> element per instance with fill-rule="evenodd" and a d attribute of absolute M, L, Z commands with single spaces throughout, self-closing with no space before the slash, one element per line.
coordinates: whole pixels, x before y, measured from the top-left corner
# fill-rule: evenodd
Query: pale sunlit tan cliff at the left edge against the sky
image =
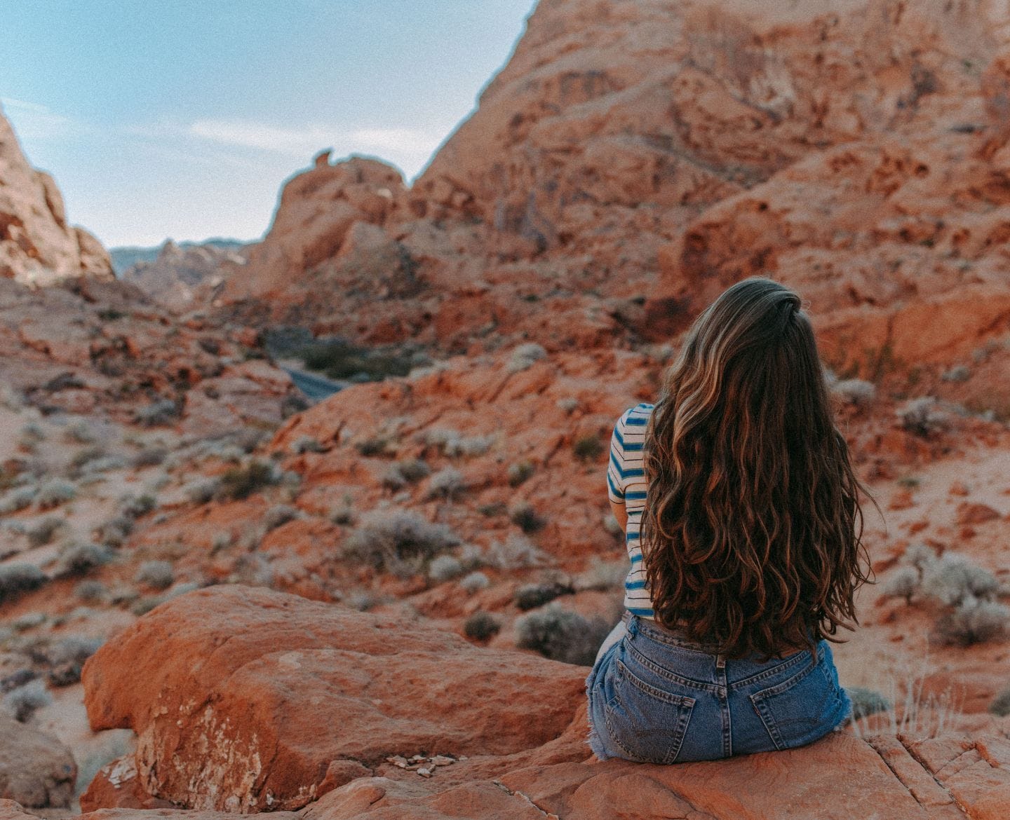
<path fill-rule="evenodd" d="M 48 285 L 68 277 L 112 278 L 101 243 L 67 224 L 54 179 L 31 168 L 0 113 L 0 277 Z"/>

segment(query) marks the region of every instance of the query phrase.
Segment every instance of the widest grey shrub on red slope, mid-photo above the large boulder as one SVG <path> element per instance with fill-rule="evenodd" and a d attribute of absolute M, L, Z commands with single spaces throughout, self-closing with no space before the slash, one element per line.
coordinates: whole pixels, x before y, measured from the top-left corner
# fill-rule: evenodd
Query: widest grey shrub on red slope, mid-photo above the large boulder
<path fill-rule="evenodd" d="M 350 557 L 409 577 L 439 552 L 459 546 L 460 538 L 444 524 L 432 524 L 410 510 L 374 510 L 343 544 Z"/>

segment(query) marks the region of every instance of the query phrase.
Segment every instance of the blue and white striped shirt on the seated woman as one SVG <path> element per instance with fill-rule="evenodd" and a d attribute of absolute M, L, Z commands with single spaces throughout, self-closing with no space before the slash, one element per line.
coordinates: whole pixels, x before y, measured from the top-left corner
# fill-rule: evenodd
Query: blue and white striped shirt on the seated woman
<path fill-rule="evenodd" d="M 652 408 L 651 404 L 638 404 L 625 410 L 617 419 L 610 439 L 610 464 L 607 467 L 607 495 L 615 504 L 623 504 L 628 514 L 624 543 L 631 559 L 631 571 L 624 581 L 624 606 L 632 615 L 642 618 L 653 617 L 638 543 L 641 513 L 645 509 L 642 443 Z"/>

